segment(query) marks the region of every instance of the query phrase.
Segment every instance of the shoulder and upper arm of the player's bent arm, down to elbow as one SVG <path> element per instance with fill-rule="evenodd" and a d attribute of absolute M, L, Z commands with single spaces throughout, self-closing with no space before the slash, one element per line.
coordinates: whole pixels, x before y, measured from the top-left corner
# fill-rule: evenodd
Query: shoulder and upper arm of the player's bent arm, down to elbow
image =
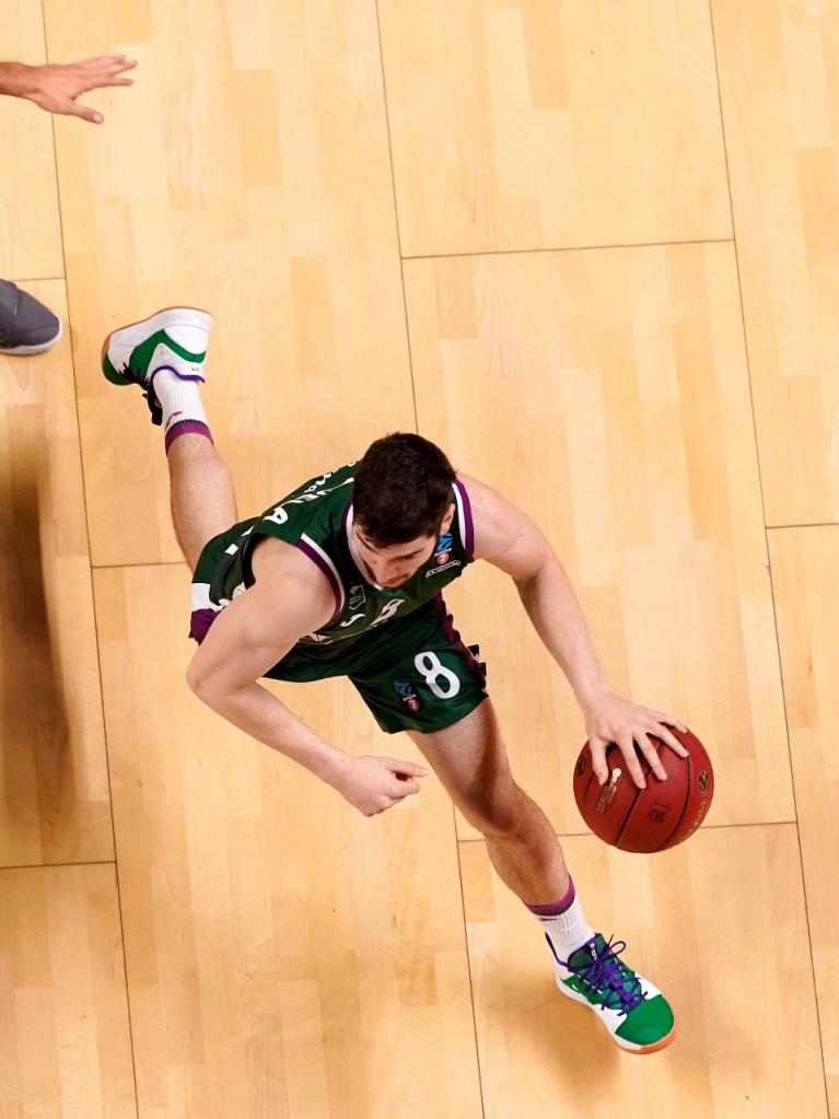
<path fill-rule="evenodd" d="M 279 543 L 279 542 L 277 542 Z M 258 579 L 225 606 L 187 669 L 198 695 L 237 692 L 260 679 L 307 633 L 332 617 L 326 576 L 296 548 L 271 549 Z"/>

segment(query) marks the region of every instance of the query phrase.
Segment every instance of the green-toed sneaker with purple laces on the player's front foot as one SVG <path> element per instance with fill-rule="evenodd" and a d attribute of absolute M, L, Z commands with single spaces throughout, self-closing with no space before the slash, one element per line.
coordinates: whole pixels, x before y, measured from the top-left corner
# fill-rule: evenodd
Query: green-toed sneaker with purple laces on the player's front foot
<path fill-rule="evenodd" d="M 676 1036 L 673 1012 L 649 979 L 637 975 L 618 957 L 624 941 L 609 943 L 596 932 L 582 948 L 560 960 L 546 938 L 556 960 L 556 985 L 563 995 L 594 1010 L 628 1053 L 654 1053 Z"/>

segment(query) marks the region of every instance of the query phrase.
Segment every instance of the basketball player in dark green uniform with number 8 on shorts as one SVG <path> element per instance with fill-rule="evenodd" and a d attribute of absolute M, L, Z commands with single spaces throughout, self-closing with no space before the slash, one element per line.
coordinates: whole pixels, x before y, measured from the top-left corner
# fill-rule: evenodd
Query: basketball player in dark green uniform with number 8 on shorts
<path fill-rule="evenodd" d="M 195 572 L 189 686 L 373 816 L 417 793 L 427 771 L 343 753 L 257 683 L 348 676 L 384 731 L 407 731 L 483 834 L 496 871 L 541 923 L 563 995 L 591 1007 L 622 1049 L 662 1049 L 670 1006 L 620 958 L 622 941 L 586 923 L 550 824 L 511 777 L 483 666 L 454 630 L 443 587 L 475 560 L 511 576 L 579 700 L 601 784 L 610 742 L 639 786 L 639 751 L 664 779 L 648 735 L 685 756 L 670 731 L 685 727 L 610 689 L 539 529 L 418 435 L 379 439 L 360 462 L 236 523 L 199 391 L 211 325 L 202 311 L 168 309 L 114 331 L 102 350 L 105 376 L 141 385 L 163 426 L 175 529 Z"/>

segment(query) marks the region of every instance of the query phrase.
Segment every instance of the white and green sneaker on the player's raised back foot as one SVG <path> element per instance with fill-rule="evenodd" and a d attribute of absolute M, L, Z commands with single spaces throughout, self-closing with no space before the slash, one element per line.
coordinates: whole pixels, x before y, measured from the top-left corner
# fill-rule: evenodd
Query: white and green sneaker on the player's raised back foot
<path fill-rule="evenodd" d="M 152 422 L 162 410 L 154 376 L 164 369 L 179 380 L 204 382 L 213 316 L 195 307 L 167 307 L 148 319 L 112 331 L 102 344 L 102 372 L 115 385 L 141 385 Z"/>

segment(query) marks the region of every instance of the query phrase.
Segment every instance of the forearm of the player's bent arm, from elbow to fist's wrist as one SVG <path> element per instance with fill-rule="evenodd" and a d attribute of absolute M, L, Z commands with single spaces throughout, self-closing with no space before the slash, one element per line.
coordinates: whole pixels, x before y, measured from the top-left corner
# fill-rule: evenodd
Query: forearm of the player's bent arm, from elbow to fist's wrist
<path fill-rule="evenodd" d="M 282 700 L 258 684 L 225 688 L 213 679 L 190 680 L 198 698 L 252 739 L 285 754 L 328 784 L 334 784 L 349 755 L 311 731 Z"/>

